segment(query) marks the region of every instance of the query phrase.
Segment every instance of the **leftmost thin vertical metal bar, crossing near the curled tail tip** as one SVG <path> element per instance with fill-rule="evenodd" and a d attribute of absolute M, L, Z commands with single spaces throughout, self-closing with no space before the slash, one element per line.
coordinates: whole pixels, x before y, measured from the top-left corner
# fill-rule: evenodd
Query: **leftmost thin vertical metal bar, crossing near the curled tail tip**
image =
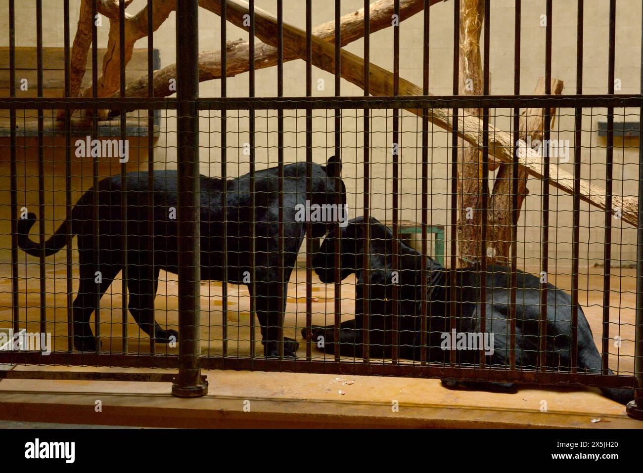
<path fill-rule="evenodd" d="M 15 97 L 15 0 L 9 0 L 9 96 Z M 17 190 L 17 139 L 15 109 L 9 111 L 10 124 L 10 186 L 11 186 L 11 299 L 14 331 L 20 330 L 19 281 L 18 281 L 18 190 Z"/>

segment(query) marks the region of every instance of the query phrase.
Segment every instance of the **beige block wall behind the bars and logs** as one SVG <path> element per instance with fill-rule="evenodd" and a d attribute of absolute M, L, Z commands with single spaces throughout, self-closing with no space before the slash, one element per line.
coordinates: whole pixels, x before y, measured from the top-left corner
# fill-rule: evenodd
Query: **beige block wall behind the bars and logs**
<path fill-rule="evenodd" d="M 75 3 L 75 2 L 72 2 Z M 145 0 L 134 0 L 129 12 L 142 8 Z M 276 13 L 275 0 L 257 0 L 259 8 Z M 334 5 L 327 0 L 313 0 L 313 24 L 330 21 L 334 18 Z M 350 13 L 362 6 L 361 0 L 342 1 L 341 13 Z M 608 8 L 605 0 L 586 0 L 584 4 L 584 75 L 583 92 L 586 94 L 607 93 L 608 76 Z M 35 46 L 35 1 L 20 1 L 17 6 L 16 41 L 19 46 Z M 44 0 L 44 46 L 62 46 L 62 2 Z M 3 8 L 6 8 L 3 6 Z M 303 1 L 284 2 L 284 21 L 305 28 L 305 3 Z M 514 2 L 494 0 L 491 2 L 491 50 L 490 73 L 491 93 L 512 94 L 514 77 Z M 219 49 L 219 17 L 201 9 L 199 16 L 199 49 Z M 545 0 L 523 2 L 521 32 L 521 93 L 532 93 L 539 78 L 545 73 L 545 28 L 540 26 L 540 17 L 545 13 Z M 71 30 L 75 32 L 75 19 L 78 6 L 71 7 L 73 19 Z M 635 0 L 617 1 L 617 35 L 615 76 L 620 79 L 620 93 L 640 91 L 640 17 L 641 4 Z M 160 49 L 161 67 L 176 60 L 175 14 L 154 34 L 154 46 Z M 99 46 L 105 46 L 109 22 L 104 19 L 99 28 Z M 564 93 L 575 92 L 576 67 L 576 1 L 557 0 L 554 2 L 552 19 L 553 54 L 552 76 L 565 82 Z M 453 3 L 446 1 L 431 7 L 430 33 L 430 91 L 433 94 L 451 94 L 453 69 Z M 8 19 L 0 15 L 0 44 L 8 42 Z M 418 14 L 401 24 L 400 73 L 404 78 L 422 83 L 422 15 Z M 248 33 L 228 24 L 228 39 L 248 39 Z M 393 31 L 386 30 L 371 36 L 371 59 L 387 69 L 393 64 Z M 146 47 L 147 40 L 141 39 L 136 47 Z M 363 55 L 363 41 L 358 40 L 347 49 Z M 325 82 L 323 91 L 314 88 L 314 96 L 334 95 L 333 76 L 313 68 L 314 85 L 319 79 Z M 276 95 L 276 68 L 261 69 L 256 73 L 257 96 Z M 284 90 L 287 96 L 305 94 L 305 64 L 301 60 L 284 65 Z M 203 97 L 220 96 L 220 82 L 213 80 L 201 84 L 199 93 Z M 363 91 L 346 81 L 341 83 L 343 96 L 360 96 Z M 248 73 L 228 79 L 229 96 L 248 95 Z M 161 137 L 155 152 L 156 166 L 176 167 L 176 119 L 170 112 L 162 112 Z M 510 109 L 491 111 L 491 123 L 499 129 L 511 129 Z M 593 184 L 605 186 L 606 139 L 597 134 L 598 122 L 606 121 L 605 109 L 583 110 L 583 179 L 591 179 Z M 615 110 L 615 120 L 638 120 L 638 110 Z M 313 159 L 323 163 L 334 154 L 334 112 L 319 110 L 314 113 L 313 121 Z M 343 112 L 341 127 L 342 159 L 345 163 L 343 177 L 350 193 L 350 216 L 359 215 L 362 206 L 363 181 L 362 157 L 363 120 L 359 111 Z M 220 175 L 220 129 L 217 112 L 203 112 L 201 126 L 201 169 L 203 174 Z M 256 159 L 257 167 L 276 165 L 277 132 L 276 112 L 259 111 L 256 121 Z M 403 112 L 401 120 L 401 218 L 419 220 L 421 218 L 421 123 L 415 116 Z M 305 159 L 305 118 L 303 111 L 286 111 L 284 121 L 285 160 Z M 377 110 L 372 112 L 372 211 L 381 218 L 391 217 L 392 165 L 390 146 L 392 142 L 391 112 Z M 248 156 L 241 147 L 248 139 L 248 112 L 229 112 L 228 114 L 228 159 L 229 174 L 243 174 L 248 170 Z M 574 144 L 574 110 L 561 109 L 552 139 L 569 140 Z M 638 176 L 638 139 L 616 139 L 614 145 L 614 192 L 619 195 L 636 195 Z M 430 128 L 430 208 L 433 224 L 448 225 L 449 222 L 449 166 L 451 160 L 451 139 L 449 134 L 437 127 Z M 552 158 L 555 161 L 555 159 Z M 237 164 L 238 163 L 238 164 Z M 572 172 L 571 163 L 561 164 L 561 168 Z M 492 176 L 493 177 L 493 176 Z M 493 186 L 493 182 L 491 183 Z M 541 242 L 541 182 L 530 178 L 530 195 L 525 200 L 519 228 L 520 263 L 527 267 L 538 264 Z M 570 266 L 572 240 L 572 198 L 565 193 L 550 188 L 550 256 L 558 258 L 559 268 Z M 357 210 L 355 210 L 357 209 Z M 612 256 L 617 263 L 635 260 L 635 230 L 622 220 L 613 219 Z M 602 260 L 602 226 L 604 213 L 581 202 L 581 267 Z M 557 229 L 554 227 L 557 226 Z M 524 260 L 523 260 L 524 258 Z M 554 263 L 550 263 L 553 265 Z"/>

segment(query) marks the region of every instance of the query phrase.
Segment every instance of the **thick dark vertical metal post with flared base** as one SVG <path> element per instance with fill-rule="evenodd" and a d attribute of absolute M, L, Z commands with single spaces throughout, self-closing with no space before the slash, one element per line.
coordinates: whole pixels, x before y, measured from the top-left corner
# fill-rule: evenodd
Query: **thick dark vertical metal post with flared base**
<path fill-rule="evenodd" d="M 199 2 L 185 0 L 176 10 L 177 162 L 179 248 L 179 374 L 177 397 L 199 397 L 208 383 L 199 368 L 201 311 L 201 231 L 199 182 Z"/>

